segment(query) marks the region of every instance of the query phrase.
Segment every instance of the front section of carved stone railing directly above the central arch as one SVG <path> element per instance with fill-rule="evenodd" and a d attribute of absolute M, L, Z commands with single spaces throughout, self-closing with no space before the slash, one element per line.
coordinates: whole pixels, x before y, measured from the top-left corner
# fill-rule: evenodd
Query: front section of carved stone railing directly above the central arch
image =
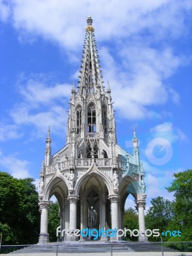
<path fill-rule="evenodd" d="M 90 167 L 93 162 L 98 167 L 111 166 L 111 158 L 77 158 L 75 159 L 76 167 Z"/>

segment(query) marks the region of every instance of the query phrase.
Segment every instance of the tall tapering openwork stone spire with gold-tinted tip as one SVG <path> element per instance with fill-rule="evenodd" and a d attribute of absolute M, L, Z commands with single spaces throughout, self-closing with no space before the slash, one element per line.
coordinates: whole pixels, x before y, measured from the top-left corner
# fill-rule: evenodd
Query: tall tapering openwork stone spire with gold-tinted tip
<path fill-rule="evenodd" d="M 79 92 L 84 98 L 88 98 L 91 92 L 95 93 L 96 91 L 98 92 L 98 90 L 100 93 L 104 92 L 92 22 L 92 17 L 89 16 L 83 45 L 82 65 L 79 71 L 81 73 L 79 76 Z"/>

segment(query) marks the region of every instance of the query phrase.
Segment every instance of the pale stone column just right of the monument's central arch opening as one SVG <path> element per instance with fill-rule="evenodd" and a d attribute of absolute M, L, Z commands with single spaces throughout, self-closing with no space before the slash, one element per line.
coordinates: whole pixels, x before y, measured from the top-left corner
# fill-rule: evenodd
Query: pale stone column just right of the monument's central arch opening
<path fill-rule="evenodd" d="M 118 229 L 118 195 L 110 195 L 109 200 L 111 201 L 111 228 L 114 230 Z M 111 240 L 118 240 L 118 237 L 111 237 Z"/>

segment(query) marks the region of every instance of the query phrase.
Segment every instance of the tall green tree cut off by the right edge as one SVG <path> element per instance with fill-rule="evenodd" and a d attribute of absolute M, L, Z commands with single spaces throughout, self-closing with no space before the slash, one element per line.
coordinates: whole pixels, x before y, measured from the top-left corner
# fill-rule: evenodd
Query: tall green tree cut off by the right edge
<path fill-rule="evenodd" d="M 173 230 L 180 230 L 182 241 L 192 240 L 192 170 L 174 174 L 175 180 L 168 191 L 175 192 Z M 178 237 L 177 237 L 178 238 Z M 170 240 L 177 239 L 171 237 Z"/>

